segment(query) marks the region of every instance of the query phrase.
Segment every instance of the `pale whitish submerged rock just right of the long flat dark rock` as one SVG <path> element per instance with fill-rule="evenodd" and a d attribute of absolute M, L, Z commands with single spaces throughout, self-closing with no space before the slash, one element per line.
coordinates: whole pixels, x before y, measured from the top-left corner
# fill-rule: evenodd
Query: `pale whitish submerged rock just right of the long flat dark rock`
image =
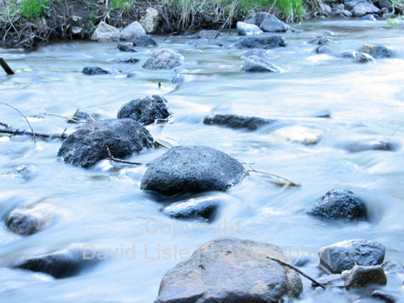
<path fill-rule="evenodd" d="M 283 137 L 287 141 L 304 145 L 317 144 L 324 137 L 322 130 L 307 128 L 304 126 L 287 126 L 279 128 L 278 130 L 275 130 L 272 135 Z"/>

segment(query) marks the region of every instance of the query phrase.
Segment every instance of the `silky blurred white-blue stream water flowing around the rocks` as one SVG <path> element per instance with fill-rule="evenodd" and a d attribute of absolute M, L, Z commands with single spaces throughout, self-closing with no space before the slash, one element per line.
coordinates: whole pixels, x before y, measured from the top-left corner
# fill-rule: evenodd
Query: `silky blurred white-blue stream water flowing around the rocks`
<path fill-rule="evenodd" d="M 34 130 L 62 133 L 74 129 L 64 119 L 41 116 L 48 112 L 72 116 L 76 109 L 116 117 L 121 105 L 135 97 L 164 95 L 172 113 L 168 123 L 148 127 L 159 140 L 184 145 L 206 145 L 264 170 L 302 184 L 281 189 L 263 175 L 251 174 L 225 193 L 208 193 L 224 201 L 215 223 L 201 224 L 199 232 L 162 215 L 163 205 L 139 188 L 144 166 L 113 166 L 102 161 L 90 169 L 58 160 L 61 142 L 29 137 L 0 137 L 0 217 L 19 206 L 46 201 L 58 210 L 59 219 L 50 228 L 22 237 L 0 224 L 1 302 L 152 302 L 163 274 L 187 252 L 215 236 L 249 238 L 279 245 L 290 257 L 308 260 L 307 274 L 321 274 L 318 249 L 351 238 L 379 241 L 386 246 L 385 260 L 404 261 L 404 32 L 386 22 L 316 20 L 295 25 L 284 34 L 285 48 L 273 51 L 281 74 L 245 73 L 243 50 L 215 46 L 192 46 L 194 36 L 154 37 L 159 47 L 179 50 L 187 81 L 171 83 L 173 71 L 142 69 L 152 49 L 122 53 L 116 43 L 66 42 L 40 47 L 32 53 L 0 50 L 14 76 L 0 75 L 1 100 L 29 116 Z M 358 50 L 365 43 L 391 47 L 393 58 L 373 64 L 354 64 L 350 59 L 316 54 L 324 30 L 330 30 L 335 50 Z M 224 39 L 234 39 L 235 33 Z M 113 58 L 139 58 L 135 65 L 116 65 Z M 86 76 L 85 66 L 118 67 L 121 75 Z M 135 76 L 127 78 L 128 72 Z M 158 82 L 161 82 L 161 89 Z M 316 118 L 329 111 L 330 119 Z M 302 145 L 271 135 L 271 129 L 231 130 L 203 125 L 212 113 L 242 114 L 279 119 L 278 125 L 299 125 L 323 130 L 316 145 Z M 1 119 L 27 128 L 13 109 L 1 105 Z M 389 140 L 395 152 L 349 153 L 347 142 Z M 149 162 L 162 154 L 156 149 L 133 155 L 133 161 Z M 15 173 L 29 166 L 25 177 Z M 304 210 L 326 191 L 351 189 L 368 204 L 370 222 L 347 224 L 323 222 Z M 153 220 L 153 221 L 150 221 Z M 234 224 L 234 230 L 224 229 Z M 237 222 L 241 222 L 236 229 Z M 147 225 L 147 223 L 149 223 Z M 196 222 L 194 222 L 196 224 Z M 163 225 L 161 228 L 161 224 Z M 222 228 L 218 224 L 222 224 Z M 189 226 L 188 226 L 189 227 Z M 133 248 L 135 258 L 116 257 L 79 276 L 53 279 L 45 274 L 8 268 L 22 257 L 88 243 L 112 250 Z M 158 255 L 166 249 L 171 257 Z M 183 250 L 182 256 L 175 253 Z M 182 257 L 182 258 L 181 258 Z M 402 277 L 389 279 L 386 290 L 400 292 Z M 353 302 L 356 292 L 311 289 L 304 281 L 301 302 Z"/>

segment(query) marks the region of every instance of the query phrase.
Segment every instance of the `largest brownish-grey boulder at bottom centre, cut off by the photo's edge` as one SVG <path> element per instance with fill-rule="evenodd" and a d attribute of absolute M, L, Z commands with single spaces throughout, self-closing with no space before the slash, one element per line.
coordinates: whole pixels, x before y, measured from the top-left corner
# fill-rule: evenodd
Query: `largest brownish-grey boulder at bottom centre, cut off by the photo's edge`
<path fill-rule="evenodd" d="M 278 262 L 278 246 L 238 238 L 201 245 L 191 257 L 168 271 L 154 303 L 281 302 L 302 292 L 299 275 Z"/>

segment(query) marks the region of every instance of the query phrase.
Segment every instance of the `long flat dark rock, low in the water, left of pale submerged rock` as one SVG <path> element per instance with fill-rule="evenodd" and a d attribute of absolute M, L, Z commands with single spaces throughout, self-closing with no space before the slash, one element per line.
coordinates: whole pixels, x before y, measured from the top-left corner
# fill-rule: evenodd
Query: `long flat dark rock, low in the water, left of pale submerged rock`
<path fill-rule="evenodd" d="M 208 125 L 221 125 L 235 129 L 248 128 L 249 130 L 257 130 L 275 121 L 257 116 L 238 116 L 234 114 L 210 114 L 203 119 L 203 123 Z"/>

